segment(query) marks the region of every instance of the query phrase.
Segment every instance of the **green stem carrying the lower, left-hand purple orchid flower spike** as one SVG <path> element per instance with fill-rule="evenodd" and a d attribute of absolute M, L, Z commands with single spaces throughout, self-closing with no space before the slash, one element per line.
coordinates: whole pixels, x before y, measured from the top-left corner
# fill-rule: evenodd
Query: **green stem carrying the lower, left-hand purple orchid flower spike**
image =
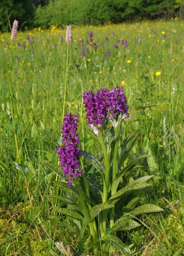
<path fill-rule="evenodd" d="M 84 201 L 84 195 L 83 195 L 83 192 L 82 192 L 82 189 L 81 189 L 81 185 L 80 185 L 79 179 L 74 177 L 74 181 L 75 181 L 75 185 L 76 185 L 76 187 L 77 187 L 77 189 L 79 191 L 80 203 L 81 203 L 81 206 L 82 206 L 82 211 L 83 211 L 84 216 L 86 217 L 86 219 L 88 221 L 88 226 L 89 226 L 90 234 L 93 237 L 93 240 L 94 240 L 93 242 L 95 243 L 98 240 L 98 235 L 97 235 L 97 233 L 95 234 L 94 227 L 93 227 L 93 221 L 90 220 L 91 218 L 89 216 L 88 209 L 87 209 L 85 201 Z"/>

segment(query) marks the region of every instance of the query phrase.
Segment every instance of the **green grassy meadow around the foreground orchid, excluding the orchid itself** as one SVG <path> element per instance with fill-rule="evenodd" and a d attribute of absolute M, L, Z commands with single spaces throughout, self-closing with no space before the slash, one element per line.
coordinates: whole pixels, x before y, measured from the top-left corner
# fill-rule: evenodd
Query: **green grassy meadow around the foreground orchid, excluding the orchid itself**
<path fill-rule="evenodd" d="M 140 226 L 119 232 L 118 237 L 130 247 L 131 255 L 184 255 L 180 249 L 184 248 L 184 21 L 72 26 L 71 32 L 67 63 L 66 29 L 53 25 L 49 30 L 44 26 L 18 30 L 12 68 L 11 34 L 0 34 L 11 69 L 22 134 L 23 150 L 17 131 L 18 149 L 28 168 L 25 175 L 31 197 L 23 172 L 15 164 L 18 156 L 10 121 L 9 76 L 1 50 L 0 255 L 61 255 L 56 242 L 79 255 L 80 236 L 65 225 L 76 229 L 76 223 L 57 211 L 66 205 L 46 197 L 65 195 L 53 183 L 60 180 L 58 169 L 49 168 L 47 161 L 57 164 L 58 160 L 66 71 L 65 113 L 83 120 L 78 132 L 81 138 L 84 134 L 84 149 L 99 159 L 102 156 L 99 142 L 88 129 L 84 108 L 80 114 L 82 92 L 96 93 L 118 85 L 124 87 L 130 112 L 123 122 L 122 138 L 140 128 L 124 166 L 141 155 L 150 156 L 141 159 L 124 179 L 154 175 L 149 180 L 151 186 L 132 191 L 132 196 L 140 197 L 139 204 L 155 204 L 164 211 L 137 216 Z M 17 120 L 15 111 L 14 116 Z M 84 255 L 87 253 L 93 255 L 89 247 Z M 112 253 L 128 255 L 115 249 Z M 109 253 L 98 251 L 97 255 Z"/>

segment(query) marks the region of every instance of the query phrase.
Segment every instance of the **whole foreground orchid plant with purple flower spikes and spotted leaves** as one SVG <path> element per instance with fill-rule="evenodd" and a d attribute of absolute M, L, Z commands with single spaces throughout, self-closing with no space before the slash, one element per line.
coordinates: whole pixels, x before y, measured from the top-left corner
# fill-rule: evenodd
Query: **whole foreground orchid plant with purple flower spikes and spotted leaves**
<path fill-rule="evenodd" d="M 136 207 L 141 198 L 130 197 L 134 190 L 151 185 L 146 181 L 153 175 L 136 180 L 127 176 L 128 172 L 140 167 L 138 163 L 142 158 L 149 156 L 140 156 L 124 164 L 139 130 L 122 139 L 123 121 L 130 115 L 123 87 L 104 88 L 96 94 L 90 90 L 83 93 L 83 100 L 91 135 L 100 144 L 103 156 L 98 159 L 90 152 L 81 150 L 77 133 L 78 116 L 66 114 L 61 131 L 62 143 L 57 148 L 61 169 L 47 163 L 62 177 L 62 181 L 55 183 L 63 189 L 66 197 L 47 197 L 61 200 L 58 212 L 74 219 L 76 229 L 66 222 L 60 223 L 72 234 L 80 236 L 76 255 L 81 256 L 87 248 L 94 255 L 98 251 L 112 252 L 113 248 L 131 254 L 131 245 L 124 244 L 117 231 L 140 226 L 134 216 L 163 210 L 153 204 Z M 68 208 L 62 208 L 62 205 L 68 205 Z"/>

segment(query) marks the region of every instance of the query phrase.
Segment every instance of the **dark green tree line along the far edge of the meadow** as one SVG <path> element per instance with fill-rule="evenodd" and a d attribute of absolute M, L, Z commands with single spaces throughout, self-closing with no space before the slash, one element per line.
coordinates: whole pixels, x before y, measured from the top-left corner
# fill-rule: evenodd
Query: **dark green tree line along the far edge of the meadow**
<path fill-rule="evenodd" d="M 8 17 L 22 29 L 51 25 L 184 18 L 184 0 L 1 0 L 0 30 L 8 29 Z"/>

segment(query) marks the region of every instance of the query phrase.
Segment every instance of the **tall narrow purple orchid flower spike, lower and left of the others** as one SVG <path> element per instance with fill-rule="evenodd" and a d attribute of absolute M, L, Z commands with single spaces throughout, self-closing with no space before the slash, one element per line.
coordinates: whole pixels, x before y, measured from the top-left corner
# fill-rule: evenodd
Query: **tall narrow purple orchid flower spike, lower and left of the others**
<path fill-rule="evenodd" d="M 61 162 L 61 169 L 64 171 L 65 177 L 69 178 L 68 185 L 72 185 L 74 177 L 83 174 L 83 170 L 79 166 L 80 148 L 77 144 L 80 143 L 77 131 L 78 116 L 74 114 L 66 114 L 62 125 L 62 146 L 60 145 L 56 151 Z"/>

